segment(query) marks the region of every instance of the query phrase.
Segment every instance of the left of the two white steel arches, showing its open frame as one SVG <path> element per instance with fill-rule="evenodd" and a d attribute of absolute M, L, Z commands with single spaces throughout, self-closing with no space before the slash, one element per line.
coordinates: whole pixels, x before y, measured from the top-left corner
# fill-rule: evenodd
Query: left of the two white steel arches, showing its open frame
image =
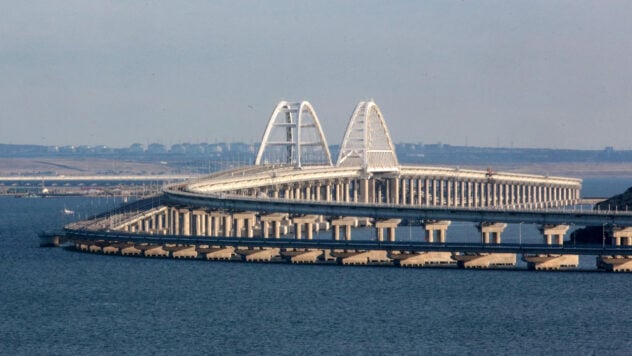
<path fill-rule="evenodd" d="M 332 166 L 318 116 L 307 101 L 277 104 L 263 134 L 255 165 Z"/>

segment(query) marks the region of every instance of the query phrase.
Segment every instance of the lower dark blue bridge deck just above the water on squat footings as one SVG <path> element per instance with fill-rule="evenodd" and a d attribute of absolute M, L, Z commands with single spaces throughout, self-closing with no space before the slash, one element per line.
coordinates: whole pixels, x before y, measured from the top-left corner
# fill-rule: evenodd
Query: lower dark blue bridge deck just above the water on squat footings
<path fill-rule="evenodd" d="M 180 235 L 150 235 L 139 233 L 103 232 L 65 229 L 62 235 L 71 240 L 116 241 L 147 244 L 219 245 L 233 247 L 305 248 L 358 251 L 407 251 L 407 252 L 461 252 L 461 253 L 521 253 L 521 254 L 571 254 L 571 255 L 632 255 L 632 246 L 611 245 L 545 245 L 545 244 L 481 244 L 449 242 L 428 243 L 417 241 L 379 242 L 370 240 L 296 240 L 235 237 L 183 237 Z"/>

